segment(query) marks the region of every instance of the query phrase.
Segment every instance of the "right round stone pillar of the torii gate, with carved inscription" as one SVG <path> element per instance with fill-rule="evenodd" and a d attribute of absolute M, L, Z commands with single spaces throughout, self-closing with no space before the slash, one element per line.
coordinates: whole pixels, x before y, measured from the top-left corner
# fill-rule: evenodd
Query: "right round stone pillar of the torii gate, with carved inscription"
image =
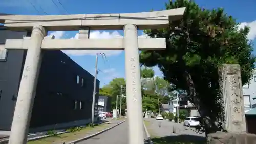
<path fill-rule="evenodd" d="M 124 25 L 125 81 L 128 119 L 128 143 L 144 143 L 140 62 L 137 26 Z"/>

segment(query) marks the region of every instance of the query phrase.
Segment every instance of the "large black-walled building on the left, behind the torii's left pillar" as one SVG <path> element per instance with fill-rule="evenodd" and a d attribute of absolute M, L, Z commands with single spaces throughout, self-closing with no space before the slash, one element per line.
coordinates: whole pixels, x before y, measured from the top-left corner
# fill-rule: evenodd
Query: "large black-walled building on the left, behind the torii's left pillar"
<path fill-rule="evenodd" d="M 22 39 L 24 35 L 26 32 L 0 30 L 0 45 L 5 39 Z M 0 47 L 0 130 L 10 130 L 27 52 L 8 50 L 5 56 L 3 53 Z M 94 76 L 60 50 L 42 51 L 42 55 L 30 131 L 89 123 Z M 97 100 L 96 94 L 95 103 Z"/>

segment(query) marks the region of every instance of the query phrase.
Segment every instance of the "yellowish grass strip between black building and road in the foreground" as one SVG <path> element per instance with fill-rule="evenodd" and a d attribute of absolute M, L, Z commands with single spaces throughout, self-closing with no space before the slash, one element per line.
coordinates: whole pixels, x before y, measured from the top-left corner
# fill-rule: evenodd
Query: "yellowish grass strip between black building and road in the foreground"
<path fill-rule="evenodd" d="M 34 141 L 28 141 L 28 144 L 55 144 L 55 143 L 59 144 L 63 142 L 70 142 L 70 141 L 85 137 L 86 134 L 94 134 L 108 127 L 109 127 L 108 124 L 100 124 L 100 125 L 94 126 L 94 128 L 85 127 L 75 132 L 63 133 L 56 136 L 46 137 L 46 138 L 42 138 Z"/>

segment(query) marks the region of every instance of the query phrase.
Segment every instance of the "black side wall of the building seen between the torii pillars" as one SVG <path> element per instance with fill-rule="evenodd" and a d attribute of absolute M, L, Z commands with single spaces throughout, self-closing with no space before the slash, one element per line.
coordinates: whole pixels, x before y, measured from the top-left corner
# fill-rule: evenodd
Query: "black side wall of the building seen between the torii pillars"
<path fill-rule="evenodd" d="M 79 84 L 76 76 L 79 75 Z M 84 87 L 81 86 L 84 79 Z M 30 127 L 91 118 L 94 77 L 61 51 L 44 51 Z M 99 81 L 97 82 L 99 91 Z M 74 101 L 77 109 L 74 110 Z M 84 108 L 79 109 L 80 101 Z"/>

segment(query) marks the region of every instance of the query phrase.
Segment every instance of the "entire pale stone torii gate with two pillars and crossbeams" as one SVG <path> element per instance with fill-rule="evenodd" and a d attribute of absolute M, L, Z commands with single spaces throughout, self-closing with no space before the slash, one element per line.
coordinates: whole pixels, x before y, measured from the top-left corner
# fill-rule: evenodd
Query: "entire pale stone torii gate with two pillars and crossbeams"
<path fill-rule="evenodd" d="M 166 28 L 185 8 L 126 14 L 0 15 L 0 23 L 14 31 L 31 31 L 26 39 L 7 39 L 6 49 L 28 49 L 13 116 L 9 144 L 25 144 L 40 69 L 41 50 L 125 50 L 129 144 L 144 143 L 139 50 L 166 48 L 165 38 L 138 38 L 137 29 Z M 123 39 L 88 39 L 84 29 L 124 30 Z M 80 39 L 52 39 L 47 31 L 81 30 Z"/>

